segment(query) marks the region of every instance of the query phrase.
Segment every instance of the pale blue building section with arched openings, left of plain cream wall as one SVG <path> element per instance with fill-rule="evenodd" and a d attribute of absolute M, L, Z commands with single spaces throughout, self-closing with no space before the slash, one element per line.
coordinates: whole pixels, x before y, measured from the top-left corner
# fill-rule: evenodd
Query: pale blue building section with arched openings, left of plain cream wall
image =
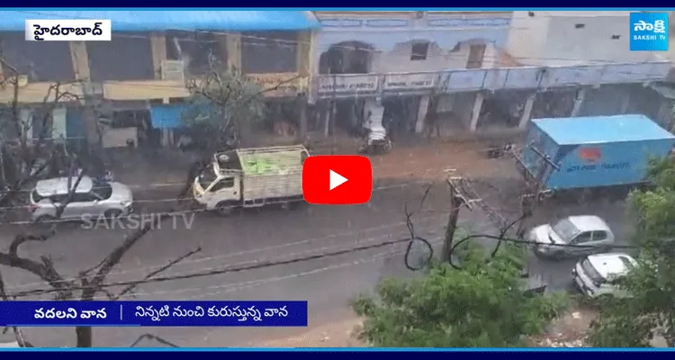
<path fill-rule="evenodd" d="M 419 132 L 438 72 L 499 66 L 511 21 L 510 12 L 315 14 L 321 31 L 312 52 L 314 98 L 320 103 L 317 127 L 322 124 L 325 133 L 330 118 L 342 121 L 338 127 L 358 128 L 368 113 L 403 113 L 393 116 L 392 128 Z M 380 87 L 382 96 L 374 96 Z"/>

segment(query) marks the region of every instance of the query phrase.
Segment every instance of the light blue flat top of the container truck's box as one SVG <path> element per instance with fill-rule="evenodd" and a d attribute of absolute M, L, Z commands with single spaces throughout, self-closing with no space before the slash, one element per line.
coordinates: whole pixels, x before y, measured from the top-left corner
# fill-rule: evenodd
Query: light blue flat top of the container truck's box
<path fill-rule="evenodd" d="M 644 115 L 536 119 L 532 122 L 558 145 L 675 139 L 670 132 Z"/>

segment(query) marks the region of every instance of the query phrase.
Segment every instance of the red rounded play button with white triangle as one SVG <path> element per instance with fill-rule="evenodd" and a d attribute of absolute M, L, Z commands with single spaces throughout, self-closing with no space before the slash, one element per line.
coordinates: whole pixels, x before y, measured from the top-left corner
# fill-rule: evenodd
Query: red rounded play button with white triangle
<path fill-rule="evenodd" d="M 370 200 L 373 169 L 368 157 L 330 155 L 307 157 L 302 164 L 305 202 L 353 205 Z"/>

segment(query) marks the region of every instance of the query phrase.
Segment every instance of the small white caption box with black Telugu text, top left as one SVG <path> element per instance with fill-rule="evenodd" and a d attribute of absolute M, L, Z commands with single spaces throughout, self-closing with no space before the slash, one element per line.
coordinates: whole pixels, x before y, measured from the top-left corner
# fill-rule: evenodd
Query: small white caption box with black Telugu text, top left
<path fill-rule="evenodd" d="M 28 41 L 110 41 L 110 20 L 26 20 Z"/>

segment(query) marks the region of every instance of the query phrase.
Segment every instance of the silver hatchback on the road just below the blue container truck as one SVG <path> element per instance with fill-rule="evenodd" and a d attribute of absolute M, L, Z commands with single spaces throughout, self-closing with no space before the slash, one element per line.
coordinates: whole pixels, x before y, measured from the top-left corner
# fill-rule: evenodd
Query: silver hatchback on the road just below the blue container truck
<path fill-rule="evenodd" d="M 536 242 L 536 255 L 553 258 L 606 252 L 615 242 L 607 222 L 594 215 L 569 216 L 554 225 L 539 225 L 530 230 L 528 239 Z"/>

